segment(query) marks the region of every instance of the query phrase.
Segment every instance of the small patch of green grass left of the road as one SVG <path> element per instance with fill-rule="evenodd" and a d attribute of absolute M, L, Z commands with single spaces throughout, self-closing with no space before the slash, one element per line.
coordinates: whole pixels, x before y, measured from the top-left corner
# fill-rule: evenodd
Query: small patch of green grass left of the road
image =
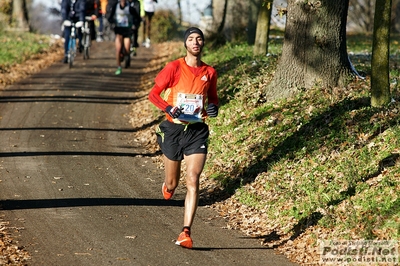
<path fill-rule="evenodd" d="M 26 32 L 0 31 L 0 73 L 10 66 L 24 62 L 43 52 L 50 45 L 50 37 Z"/>

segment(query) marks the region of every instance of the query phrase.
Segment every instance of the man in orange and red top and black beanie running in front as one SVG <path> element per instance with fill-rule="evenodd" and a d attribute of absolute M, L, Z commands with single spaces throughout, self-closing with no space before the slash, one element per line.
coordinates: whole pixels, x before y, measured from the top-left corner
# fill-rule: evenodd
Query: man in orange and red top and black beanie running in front
<path fill-rule="evenodd" d="M 201 61 L 204 34 L 191 27 L 184 34 L 186 56 L 168 63 L 155 78 L 149 100 L 166 113 L 157 128 L 157 142 L 165 166 L 162 194 L 169 200 L 186 162 L 186 197 L 183 229 L 176 241 L 193 247 L 191 226 L 199 201 L 199 179 L 206 163 L 209 128 L 207 117 L 218 115 L 217 72 Z M 161 94 L 164 92 L 164 98 Z M 206 107 L 207 105 L 207 107 Z"/>

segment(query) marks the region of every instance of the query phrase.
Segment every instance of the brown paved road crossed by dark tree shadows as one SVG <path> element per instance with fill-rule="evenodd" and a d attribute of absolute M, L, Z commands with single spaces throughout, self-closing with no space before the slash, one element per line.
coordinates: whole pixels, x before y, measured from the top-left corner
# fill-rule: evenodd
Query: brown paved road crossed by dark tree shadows
<path fill-rule="evenodd" d="M 294 265 L 207 206 L 193 250 L 174 244 L 185 190 L 162 199 L 163 172 L 127 115 L 147 97 L 155 54 L 140 48 L 115 76 L 113 44 L 94 43 L 72 69 L 56 63 L 0 91 L 0 213 L 29 265 Z"/>

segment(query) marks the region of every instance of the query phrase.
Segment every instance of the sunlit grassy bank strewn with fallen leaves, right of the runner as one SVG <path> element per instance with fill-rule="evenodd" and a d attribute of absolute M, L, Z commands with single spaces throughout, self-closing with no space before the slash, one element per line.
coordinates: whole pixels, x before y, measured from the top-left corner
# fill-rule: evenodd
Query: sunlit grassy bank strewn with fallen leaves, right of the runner
<path fill-rule="evenodd" d="M 390 78 L 400 63 L 391 40 Z M 281 43 L 271 43 L 278 51 Z M 349 36 L 353 64 L 368 75 L 371 36 Z M 360 55 L 361 54 L 361 55 Z M 329 228 L 332 238 L 400 239 L 400 90 L 387 108 L 370 107 L 369 78 L 347 88 L 316 87 L 296 97 L 262 101 L 276 56 L 228 44 L 206 51 L 216 67 L 220 115 L 210 119 L 206 175 L 268 224 L 295 233 L 296 224 Z M 310 223 L 310 220 L 313 220 Z"/>

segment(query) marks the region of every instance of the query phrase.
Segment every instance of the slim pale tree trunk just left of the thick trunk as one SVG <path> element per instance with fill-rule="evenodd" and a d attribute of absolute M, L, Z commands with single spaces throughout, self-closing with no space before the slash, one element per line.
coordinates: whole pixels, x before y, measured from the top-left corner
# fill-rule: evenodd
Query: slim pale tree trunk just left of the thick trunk
<path fill-rule="evenodd" d="M 272 1 L 260 0 L 258 11 L 256 38 L 254 42 L 253 54 L 266 55 L 268 52 L 268 36 L 272 13 Z"/>

